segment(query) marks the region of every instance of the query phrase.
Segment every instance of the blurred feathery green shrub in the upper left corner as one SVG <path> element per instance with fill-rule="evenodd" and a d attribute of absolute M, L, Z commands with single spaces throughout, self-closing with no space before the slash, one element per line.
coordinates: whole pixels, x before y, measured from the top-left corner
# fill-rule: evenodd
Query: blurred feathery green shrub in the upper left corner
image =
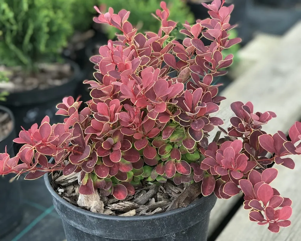
<path fill-rule="evenodd" d="M 32 68 L 60 57 L 74 0 L 0 0 L 0 64 Z"/>

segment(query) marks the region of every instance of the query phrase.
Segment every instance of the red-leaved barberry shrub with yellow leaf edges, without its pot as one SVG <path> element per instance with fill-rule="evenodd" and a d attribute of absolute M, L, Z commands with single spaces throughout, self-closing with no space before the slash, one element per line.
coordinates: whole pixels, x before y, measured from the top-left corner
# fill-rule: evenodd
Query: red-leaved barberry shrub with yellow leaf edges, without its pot
<path fill-rule="evenodd" d="M 234 102 L 232 127 L 220 128 L 226 137 L 208 143 L 210 131 L 223 124 L 211 114 L 225 99 L 217 95 L 213 78 L 225 74 L 220 69 L 233 59 L 221 52 L 240 42 L 228 40 L 233 5 L 225 7 L 224 2 L 203 4 L 211 18 L 184 24 L 183 44 L 169 37 L 176 23 L 167 20 L 165 2 L 163 11 L 156 11 L 162 23 L 157 34 L 136 34 L 126 10 L 98 11 L 96 22 L 110 24 L 123 35 L 91 58 L 97 72 L 96 80 L 85 81 L 92 89 L 88 106 L 79 112 L 82 102 L 64 98 L 57 106 L 57 114 L 66 116 L 64 123 L 51 126 L 45 117 L 40 127 L 21 131 L 14 141 L 25 145 L 14 158 L 0 155 L 0 174 L 29 171 L 26 179 L 36 179 L 45 172 L 80 172 L 80 193 L 99 189 L 101 195 L 120 200 L 133 195 L 141 180 L 202 182 L 203 196 L 214 192 L 228 199 L 243 191 L 250 220 L 269 224 L 272 232 L 289 226 L 292 202 L 269 185 L 277 169 L 267 165 L 294 168 L 293 160 L 284 156 L 301 153 L 301 146 L 294 146 L 301 139 L 301 123 L 290 128 L 287 141 L 281 131 L 272 136 L 261 130 L 276 117 L 273 112 L 254 112 L 250 102 Z M 211 45 L 204 46 L 202 38 Z M 268 152 L 275 155 L 266 158 Z M 48 163 L 46 156 L 55 163 Z"/>

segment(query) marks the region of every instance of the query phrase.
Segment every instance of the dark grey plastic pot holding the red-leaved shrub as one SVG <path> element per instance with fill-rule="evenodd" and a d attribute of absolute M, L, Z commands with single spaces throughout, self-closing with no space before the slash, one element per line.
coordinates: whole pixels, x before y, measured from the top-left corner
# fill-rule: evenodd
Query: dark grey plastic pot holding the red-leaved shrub
<path fill-rule="evenodd" d="M 216 196 L 202 197 L 186 208 L 162 214 L 119 217 L 96 214 L 62 199 L 44 175 L 68 241 L 205 241 Z"/>

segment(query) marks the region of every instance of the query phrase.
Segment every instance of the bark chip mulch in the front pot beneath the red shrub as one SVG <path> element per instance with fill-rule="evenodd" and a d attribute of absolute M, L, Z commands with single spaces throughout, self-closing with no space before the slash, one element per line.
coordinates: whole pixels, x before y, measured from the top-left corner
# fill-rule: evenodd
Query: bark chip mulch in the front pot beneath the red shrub
<path fill-rule="evenodd" d="M 127 196 L 120 201 L 112 195 L 101 196 L 98 191 L 93 195 L 79 194 L 79 174 L 64 177 L 55 173 L 51 182 L 52 188 L 71 204 L 95 213 L 113 216 L 143 216 L 163 213 L 173 209 L 186 207 L 200 199 L 200 183 L 176 186 L 167 180 L 160 186 L 150 182 L 142 182 L 135 187 L 135 195 Z"/>

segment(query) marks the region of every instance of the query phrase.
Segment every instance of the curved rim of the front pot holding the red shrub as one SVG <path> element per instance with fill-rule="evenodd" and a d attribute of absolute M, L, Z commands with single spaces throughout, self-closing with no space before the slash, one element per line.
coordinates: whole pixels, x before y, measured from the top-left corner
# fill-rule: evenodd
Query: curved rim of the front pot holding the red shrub
<path fill-rule="evenodd" d="M 187 211 L 191 208 L 195 208 L 196 206 L 198 206 L 201 203 L 205 202 L 207 199 L 210 199 L 214 195 L 214 193 L 212 193 L 209 196 L 206 196 L 206 197 L 203 196 L 199 200 L 189 204 L 185 208 L 178 208 L 178 209 L 175 209 L 175 210 L 172 210 L 172 211 L 167 211 L 167 212 L 163 212 L 163 213 L 159 213 L 159 214 L 145 215 L 145 216 L 133 216 L 133 217 L 110 216 L 110 215 L 106 215 L 106 214 L 93 213 L 91 211 L 84 210 L 82 208 L 76 207 L 75 205 L 72 205 L 71 203 L 64 200 L 61 196 L 59 196 L 57 194 L 57 192 L 54 191 L 54 189 L 50 185 L 50 180 L 48 178 L 48 173 L 44 174 L 44 180 L 45 180 L 46 187 L 49 190 L 49 192 L 51 193 L 51 195 L 53 196 L 53 198 L 55 198 L 56 200 L 61 202 L 61 204 L 67 206 L 68 208 L 72 209 L 73 211 L 79 212 L 81 214 L 84 214 L 84 215 L 87 215 L 87 216 L 90 216 L 90 217 L 93 217 L 93 218 L 100 218 L 100 219 L 114 220 L 114 221 L 142 221 L 142 220 L 145 221 L 145 220 L 154 219 L 154 218 L 162 218 L 162 217 L 166 217 L 166 216 L 171 216 L 171 215 L 174 215 L 174 214 L 178 214 L 178 213 Z"/>

